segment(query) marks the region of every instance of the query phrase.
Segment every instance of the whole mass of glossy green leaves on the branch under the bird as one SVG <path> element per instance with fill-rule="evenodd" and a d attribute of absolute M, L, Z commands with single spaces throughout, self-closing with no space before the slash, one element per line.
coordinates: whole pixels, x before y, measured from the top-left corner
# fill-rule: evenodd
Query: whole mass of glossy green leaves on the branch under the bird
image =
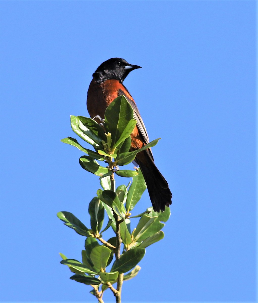
<path fill-rule="evenodd" d="M 119 275 L 123 275 L 125 281 L 138 274 L 141 269 L 138 263 L 145 255 L 145 248 L 164 237 L 161 229 L 170 216 L 169 208 L 163 213 L 156 213 L 152 207 L 132 216 L 131 212 L 145 191 L 146 184 L 140 169 L 119 169 L 119 166 L 131 163 L 139 151 L 156 145 L 159 139 L 140 150 L 130 151 L 131 133 L 136 121 L 133 119 L 131 105 L 124 96 L 116 98 L 109 105 L 104 118 L 102 125 L 99 125 L 91 118 L 71 116 L 72 130 L 94 150 L 84 148 L 75 138 L 61 140 L 87 154 L 79 159 L 81 167 L 100 177 L 101 188 L 97 190 L 88 207 L 90 228 L 68 211 L 57 214 L 66 226 L 86 237 L 81 261 L 60 254 L 61 264 L 67 265 L 74 273 L 70 279 L 91 285 L 91 293 L 97 298 L 102 298 L 107 288 L 114 294 L 117 293 L 112 285 L 118 283 Z M 98 161 L 108 165 L 105 167 Z M 132 182 L 115 189 L 114 174 L 132 177 Z M 136 226 L 133 230 L 131 221 Z M 115 236 L 106 241 L 103 234 L 109 228 L 114 230 Z M 121 255 L 118 233 L 123 244 Z"/>

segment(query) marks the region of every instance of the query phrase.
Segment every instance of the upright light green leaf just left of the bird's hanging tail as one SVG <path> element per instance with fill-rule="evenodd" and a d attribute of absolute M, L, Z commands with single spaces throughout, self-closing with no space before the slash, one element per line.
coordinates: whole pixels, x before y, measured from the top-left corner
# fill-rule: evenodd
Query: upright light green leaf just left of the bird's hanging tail
<path fill-rule="evenodd" d="M 136 203 L 141 199 L 141 196 L 146 188 L 147 186 L 144 180 L 144 176 L 141 172 L 141 169 L 139 169 L 139 174 L 133 177 L 133 183 L 128 190 L 125 204 L 127 211 L 131 211 L 134 208 Z"/>

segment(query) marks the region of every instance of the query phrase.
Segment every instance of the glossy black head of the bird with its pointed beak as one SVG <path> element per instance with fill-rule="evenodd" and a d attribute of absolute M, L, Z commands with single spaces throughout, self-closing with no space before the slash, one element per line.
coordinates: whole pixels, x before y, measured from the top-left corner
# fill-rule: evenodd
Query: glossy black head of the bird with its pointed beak
<path fill-rule="evenodd" d="M 97 82 L 104 82 L 109 79 L 123 82 L 127 75 L 137 68 L 141 68 L 141 66 L 129 64 L 122 58 L 111 58 L 101 63 L 93 77 L 96 78 Z"/>

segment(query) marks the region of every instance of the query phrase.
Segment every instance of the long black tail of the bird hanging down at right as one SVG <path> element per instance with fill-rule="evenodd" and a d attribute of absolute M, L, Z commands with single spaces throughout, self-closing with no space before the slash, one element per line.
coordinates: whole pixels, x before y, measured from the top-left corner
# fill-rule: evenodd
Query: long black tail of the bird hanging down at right
<path fill-rule="evenodd" d="M 172 194 L 166 179 L 157 169 L 147 150 L 139 152 L 136 158 L 144 176 L 154 211 L 164 211 L 171 205 Z"/>

